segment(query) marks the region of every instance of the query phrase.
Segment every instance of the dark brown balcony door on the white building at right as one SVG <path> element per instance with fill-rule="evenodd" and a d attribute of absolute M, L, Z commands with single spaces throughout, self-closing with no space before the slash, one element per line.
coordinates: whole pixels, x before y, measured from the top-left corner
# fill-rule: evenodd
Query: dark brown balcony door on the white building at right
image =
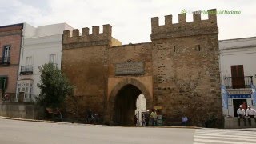
<path fill-rule="evenodd" d="M 233 89 L 245 88 L 243 65 L 231 66 L 231 76 Z"/>

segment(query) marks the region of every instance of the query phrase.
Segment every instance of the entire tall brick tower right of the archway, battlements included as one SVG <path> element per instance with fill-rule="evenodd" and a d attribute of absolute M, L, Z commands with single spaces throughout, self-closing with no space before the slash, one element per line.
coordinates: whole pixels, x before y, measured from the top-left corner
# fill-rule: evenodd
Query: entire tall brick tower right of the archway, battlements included
<path fill-rule="evenodd" d="M 152 18 L 155 105 L 163 106 L 166 124 L 185 114 L 202 126 L 210 114 L 222 118 L 217 19 L 186 23 L 184 16 L 169 26 Z"/>

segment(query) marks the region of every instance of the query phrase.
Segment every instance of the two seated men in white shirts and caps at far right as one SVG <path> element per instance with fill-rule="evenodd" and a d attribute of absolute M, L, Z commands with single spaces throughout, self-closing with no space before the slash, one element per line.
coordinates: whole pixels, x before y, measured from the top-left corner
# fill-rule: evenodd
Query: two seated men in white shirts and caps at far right
<path fill-rule="evenodd" d="M 247 108 L 247 109 L 246 109 Z M 248 118 L 249 125 L 251 126 L 251 118 L 254 118 L 256 122 L 256 110 L 250 106 L 246 106 L 245 102 L 239 106 L 237 110 L 238 114 L 238 126 L 240 126 L 240 119 L 243 119 L 244 125 L 246 126 L 246 118 Z"/>

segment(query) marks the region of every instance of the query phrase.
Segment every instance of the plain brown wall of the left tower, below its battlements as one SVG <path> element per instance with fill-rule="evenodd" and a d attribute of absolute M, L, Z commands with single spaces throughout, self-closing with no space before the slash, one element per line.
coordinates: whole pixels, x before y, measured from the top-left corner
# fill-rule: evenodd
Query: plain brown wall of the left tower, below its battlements
<path fill-rule="evenodd" d="M 86 113 L 88 109 L 103 110 L 106 85 L 104 50 L 104 46 L 94 46 L 62 52 L 62 71 L 74 84 L 75 96 L 82 101 L 80 113 Z"/>

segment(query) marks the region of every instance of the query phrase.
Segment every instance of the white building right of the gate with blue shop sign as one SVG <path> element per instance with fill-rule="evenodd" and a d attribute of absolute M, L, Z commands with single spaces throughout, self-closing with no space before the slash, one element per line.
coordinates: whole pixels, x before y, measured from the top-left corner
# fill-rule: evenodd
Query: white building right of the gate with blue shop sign
<path fill-rule="evenodd" d="M 221 82 L 228 91 L 228 110 L 223 109 L 223 114 L 236 117 L 242 102 L 253 105 L 250 84 L 256 85 L 256 37 L 222 40 L 219 50 Z"/>

